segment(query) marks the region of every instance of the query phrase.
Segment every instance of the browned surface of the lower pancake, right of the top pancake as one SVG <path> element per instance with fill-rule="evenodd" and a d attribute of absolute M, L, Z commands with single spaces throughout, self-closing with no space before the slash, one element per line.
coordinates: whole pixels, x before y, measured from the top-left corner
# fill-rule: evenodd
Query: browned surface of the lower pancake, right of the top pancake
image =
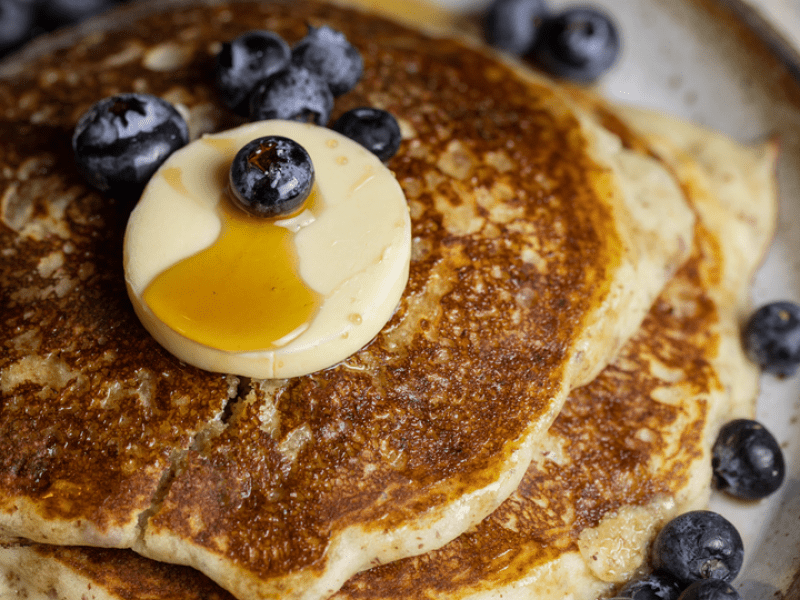
<path fill-rule="evenodd" d="M 686 485 L 703 453 L 707 403 L 691 396 L 676 405 L 657 400 L 654 391 L 669 382 L 652 373 L 651 360 L 683 374 L 688 393 L 721 389 L 709 362 L 719 345 L 718 313 L 705 290 L 718 279 L 722 256 L 708 230 L 698 226 L 696 236 L 700 247 L 641 330 L 564 404 L 549 434 L 563 441 L 563 461 L 532 465 L 518 491 L 474 530 L 439 550 L 360 573 L 337 598 L 427 600 L 513 584 L 578 550 L 581 533 L 607 515 L 671 497 Z M 666 443 L 675 431 L 679 451 Z"/>

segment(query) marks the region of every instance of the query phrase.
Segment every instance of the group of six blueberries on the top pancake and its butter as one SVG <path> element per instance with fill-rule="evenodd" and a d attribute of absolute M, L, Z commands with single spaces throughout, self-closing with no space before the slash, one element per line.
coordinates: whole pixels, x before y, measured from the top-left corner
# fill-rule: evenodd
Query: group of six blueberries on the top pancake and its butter
<path fill-rule="evenodd" d="M 363 70 L 361 55 L 345 36 L 323 26 L 310 27 L 294 48 L 270 31 L 249 31 L 226 42 L 217 55 L 215 79 L 223 102 L 251 120 L 326 125 L 334 97 L 350 91 Z M 383 161 L 400 146 L 397 120 L 377 108 L 346 112 L 332 128 Z M 163 99 L 119 94 L 101 100 L 81 117 L 72 146 L 78 169 L 89 183 L 103 191 L 136 195 L 188 139 L 185 121 Z M 253 148 L 248 146 L 248 152 L 234 160 L 231 189 L 237 203 L 252 214 L 287 214 L 310 192 L 311 160 L 297 144 L 289 148 L 283 141 L 262 142 L 255 140 Z M 271 150 L 262 152 L 266 147 Z M 267 164 L 273 159 L 274 164 Z M 287 178 L 291 185 L 284 185 Z M 287 193 L 277 193 L 280 190 Z"/>

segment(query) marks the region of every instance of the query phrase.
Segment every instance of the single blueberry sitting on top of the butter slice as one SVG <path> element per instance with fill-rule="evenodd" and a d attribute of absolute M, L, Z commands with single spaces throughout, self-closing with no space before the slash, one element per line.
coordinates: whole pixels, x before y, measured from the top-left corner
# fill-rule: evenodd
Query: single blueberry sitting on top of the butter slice
<path fill-rule="evenodd" d="M 300 144 L 273 135 L 246 144 L 233 159 L 230 184 L 234 201 L 260 217 L 288 215 L 311 193 L 314 165 Z"/>

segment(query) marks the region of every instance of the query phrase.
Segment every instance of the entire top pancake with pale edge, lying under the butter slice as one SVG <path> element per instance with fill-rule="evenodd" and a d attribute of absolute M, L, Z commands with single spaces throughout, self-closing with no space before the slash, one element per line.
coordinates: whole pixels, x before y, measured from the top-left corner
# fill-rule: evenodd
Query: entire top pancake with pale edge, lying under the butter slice
<path fill-rule="evenodd" d="M 131 89 L 177 104 L 193 137 L 235 125 L 212 85 L 219 43 L 257 27 L 294 42 L 306 23 L 364 57 L 337 114 L 370 104 L 401 122 L 389 167 L 412 217 L 409 283 L 331 369 L 206 373 L 136 320 L 128 207 L 80 179 L 72 128 Z M 508 497 L 570 389 L 688 255 L 693 215 L 662 162 L 480 48 L 315 2 L 150 3 L 85 30 L 0 82 L 4 537 L 133 548 L 242 600 L 328 596 Z"/>

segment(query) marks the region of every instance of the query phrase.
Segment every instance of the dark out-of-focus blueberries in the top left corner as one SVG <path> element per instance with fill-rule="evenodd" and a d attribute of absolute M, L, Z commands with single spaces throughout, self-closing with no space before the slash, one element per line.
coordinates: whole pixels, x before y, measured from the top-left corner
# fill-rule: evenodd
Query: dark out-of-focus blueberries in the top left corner
<path fill-rule="evenodd" d="M 0 56 L 40 33 L 72 25 L 126 0 L 0 0 Z"/>

